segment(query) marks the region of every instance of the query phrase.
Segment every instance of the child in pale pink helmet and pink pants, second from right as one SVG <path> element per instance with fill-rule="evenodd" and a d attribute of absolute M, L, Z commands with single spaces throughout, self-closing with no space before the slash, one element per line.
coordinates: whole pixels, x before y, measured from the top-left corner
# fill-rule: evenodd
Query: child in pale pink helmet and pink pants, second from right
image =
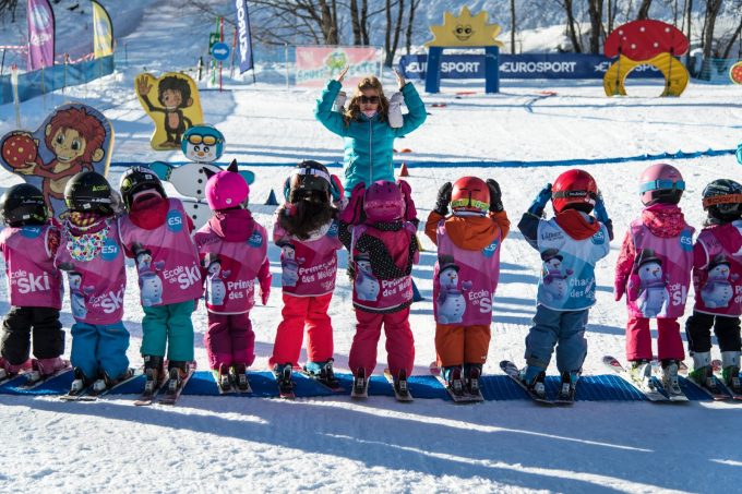
<path fill-rule="evenodd" d="M 639 178 L 644 209 L 632 221 L 615 265 L 615 300 L 626 294 L 626 359 L 632 378 L 645 389 L 651 382 L 649 320 L 657 320 L 657 354 L 670 396 L 682 394 L 678 369 L 685 357 L 678 317 L 683 315 L 693 266 L 693 227 L 678 207 L 685 182 L 674 167 L 657 164 Z"/>

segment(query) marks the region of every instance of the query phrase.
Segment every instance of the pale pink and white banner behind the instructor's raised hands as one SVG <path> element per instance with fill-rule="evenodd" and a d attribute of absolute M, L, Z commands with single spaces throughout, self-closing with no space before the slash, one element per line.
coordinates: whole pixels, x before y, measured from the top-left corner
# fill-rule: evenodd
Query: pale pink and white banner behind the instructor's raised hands
<path fill-rule="evenodd" d="M 348 65 L 343 80 L 346 87 L 358 84 L 363 75 L 379 73 L 379 50 L 375 47 L 298 46 L 296 52 L 296 85 L 323 87 Z"/>

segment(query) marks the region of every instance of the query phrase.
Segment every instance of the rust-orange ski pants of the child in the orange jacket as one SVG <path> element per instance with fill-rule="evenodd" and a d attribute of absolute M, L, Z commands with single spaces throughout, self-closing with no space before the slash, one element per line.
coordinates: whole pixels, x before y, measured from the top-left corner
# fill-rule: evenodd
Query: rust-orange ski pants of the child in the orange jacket
<path fill-rule="evenodd" d="M 483 364 L 487 362 L 489 349 L 489 324 L 471 326 L 435 325 L 435 352 L 440 366 L 448 368 L 464 363 Z"/>

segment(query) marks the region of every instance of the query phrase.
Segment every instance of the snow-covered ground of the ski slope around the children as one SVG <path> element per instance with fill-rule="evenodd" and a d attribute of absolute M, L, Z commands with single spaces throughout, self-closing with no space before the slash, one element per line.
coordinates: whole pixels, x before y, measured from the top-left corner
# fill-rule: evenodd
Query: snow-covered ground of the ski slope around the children
<path fill-rule="evenodd" d="M 168 37 L 166 32 L 188 26 L 193 17 L 169 12 L 168 2 L 149 8 L 179 24 L 156 23 L 145 15 L 124 39 L 128 63 L 119 73 L 23 104 L 23 126 L 36 129 L 56 105 L 73 99 L 104 110 L 111 120 L 115 162 L 182 160 L 179 154 L 157 154 L 148 147 L 153 129 L 133 93 L 133 76 L 143 67 L 156 72 L 190 63 L 181 49 L 191 39 Z M 224 93 L 203 91 L 201 98 L 205 120 L 227 137 L 225 162 L 237 158 L 248 166 L 285 164 L 250 166 L 258 177 L 251 209 L 270 229 L 274 207 L 263 205 L 270 191 L 280 191 L 290 167 L 301 159 L 342 160 L 342 142 L 314 120 L 315 93 L 287 91 L 278 71 L 263 70 L 259 81 Z M 393 81 L 385 74 L 388 87 Z M 484 95 L 482 86 L 481 81 L 468 82 L 423 95 L 428 121 L 397 142 L 397 148 L 414 150 L 398 155 L 408 165 L 452 162 L 448 168 L 410 166 L 408 180 L 419 214 L 427 217 L 443 182 L 477 174 L 500 182 L 505 208 L 516 224 L 538 190 L 570 168 L 462 168 L 455 162 L 617 158 L 587 167 L 603 192 L 617 237 L 610 256 L 597 268 L 598 303 L 587 335 L 585 373 L 606 373 L 601 357 L 624 354 L 626 315 L 623 303 L 613 302 L 613 265 L 626 226 L 641 210 L 637 177 L 651 162 L 618 158 L 735 148 L 742 141 L 742 89 L 691 84 L 680 98 L 658 99 L 657 85 L 630 85 L 632 96 L 624 98 L 607 98 L 598 83 L 506 82 L 499 95 Z M 456 95 L 460 89 L 477 93 Z M 0 134 L 12 129 L 13 109 L 0 106 Z M 696 227 L 704 217 L 704 185 L 716 178 L 741 179 L 732 155 L 672 164 L 687 182 L 681 205 Z M 111 168 L 113 184 L 121 172 Z M 0 189 L 16 181 L 3 172 Z M 416 372 L 422 374 L 434 358 L 435 253 L 430 241 L 420 238 L 427 251 L 415 277 L 426 301 L 414 304 L 411 324 Z M 278 254 L 271 249 L 272 299 L 252 313 L 258 370 L 266 369 L 280 315 Z M 345 267 L 344 253 L 340 260 Z M 487 373 L 499 373 L 502 359 L 523 362 L 538 264 L 536 251 L 514 228 L 502 245 Z M 142 310 L 131 265 L 129 275 L 124 323 L 132 334 L 129 357 L 137 364 Z M 0 313 L 8 308 L 5 299 L 3 285 Z M 331 315 L 342 372 L 347 372 L 354 335 L 350 308 L 350 288 L 340 272 Z M 194 315 L 202 368 L 205 321 L 202 309 Z M 69 303 L 63 323 L 72 324 Z M 379 354 L 381 370 L 383 338 Z M 732 492 L 742 482 L 741 414 L 739 406 L 708 402 L 583 401 L 569 409 L 546 409 L 527 401 L 457 407 L 440 400 L 404 405 L 387 397 L 351 402 L 348 397 L 279 401 L 184 396 L 176 408 L 142 409 L 133 407 L 130 397 L 67 403 L 53 397 L 0 396 L 0 443 L 13 458 L 0 469 L 0 491 Z"/>

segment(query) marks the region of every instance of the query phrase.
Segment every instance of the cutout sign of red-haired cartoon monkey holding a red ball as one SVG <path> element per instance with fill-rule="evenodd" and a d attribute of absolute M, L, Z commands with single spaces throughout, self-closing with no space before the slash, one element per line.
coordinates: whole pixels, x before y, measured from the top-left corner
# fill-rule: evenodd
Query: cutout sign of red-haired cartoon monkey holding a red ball
<path fill-rule="evenodd" d="M 0 164 L 38 186 L 56 217 L 67 210 L 64 186 L 74 174 L 94 170 L 106 176 L 113 130 L 98 110 L 62 105 L 34 132 L 12 131 L 0 142 Z"/>

